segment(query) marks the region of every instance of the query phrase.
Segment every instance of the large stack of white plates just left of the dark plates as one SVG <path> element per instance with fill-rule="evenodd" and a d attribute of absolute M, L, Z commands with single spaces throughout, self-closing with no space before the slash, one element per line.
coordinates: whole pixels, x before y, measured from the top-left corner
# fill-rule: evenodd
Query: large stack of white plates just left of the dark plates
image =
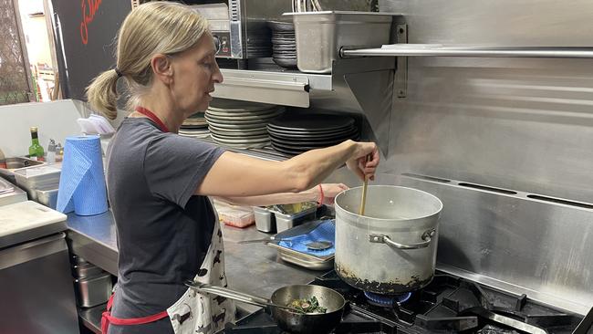
<path fill-rule="evenodd" d="M 206 110 L 214 141 L 235 148 L 262 148 L 270 144 L 267 123 L 282 111 L 275 105 L 217 99 Z"/>

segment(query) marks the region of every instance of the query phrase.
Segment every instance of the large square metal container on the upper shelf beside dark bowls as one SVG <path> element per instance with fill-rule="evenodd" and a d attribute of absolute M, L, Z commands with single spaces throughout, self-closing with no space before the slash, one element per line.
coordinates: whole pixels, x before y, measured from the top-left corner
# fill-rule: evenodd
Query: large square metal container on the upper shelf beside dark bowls
<path fill-rule="evenodd" d="M 371 12 L 301 12 L 292 16 L 296 34 L 296 67 L 307 73 L 331 73 L 340 47 L 389 44 L 393 14 Z"/>

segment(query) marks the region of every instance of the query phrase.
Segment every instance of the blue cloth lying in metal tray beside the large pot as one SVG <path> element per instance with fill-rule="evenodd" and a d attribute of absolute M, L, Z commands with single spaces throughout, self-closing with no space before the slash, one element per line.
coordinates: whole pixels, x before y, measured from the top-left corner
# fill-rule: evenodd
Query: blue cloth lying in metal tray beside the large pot
<path fill-rule="evenodd" d="M 297 252 L 311 256 L 333 256 L 336 254 L 336 223 L 334 220 L 327 220 L 306 235 L 283 237 L 282 239 L 288 241 L 281 241 L 278 245 L 296 250 Z M 324 250 L 307 248 L 308 243 L 315 241 L 330 241 L 333 245 Z"/>

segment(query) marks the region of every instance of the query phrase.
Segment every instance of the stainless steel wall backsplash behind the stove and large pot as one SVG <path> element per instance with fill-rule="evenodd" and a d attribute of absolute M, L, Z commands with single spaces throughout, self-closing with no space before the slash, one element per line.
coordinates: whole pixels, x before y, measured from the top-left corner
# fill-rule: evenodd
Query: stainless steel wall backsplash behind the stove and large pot
<path fill-rule="evenodd" d="M 593 46 L 593 3 L 584 0 L 385 0 L 380 11 L 405 16 L 410 43 Z M 407 97 L 394 99 L 378 182 L 441 197 L 441 268 L 587 311 L 593 206 L 534 195 L 593 204 L 593 59 L 408 61 Z M 334 179 L 356 184 L 345 174 Z"/>

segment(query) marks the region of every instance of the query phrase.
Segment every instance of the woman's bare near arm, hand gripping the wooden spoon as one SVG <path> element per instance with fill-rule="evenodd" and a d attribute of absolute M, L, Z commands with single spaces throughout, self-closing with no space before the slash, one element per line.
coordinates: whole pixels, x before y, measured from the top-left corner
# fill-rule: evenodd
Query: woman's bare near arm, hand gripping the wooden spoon
<path fill-rule="evenodd" d="M 365 157 L 372 158 L 366 162 Z M 224 152 L 196 189 L 196 194 L 244 197 L 270 193 L 299 193 L 321 183 L 340 165 L 359 177 L 372 175 L 379 164 L 374 142 L 344 141 L 297 155 L 285 162 L 268 162 L 230 151 Z"/>

